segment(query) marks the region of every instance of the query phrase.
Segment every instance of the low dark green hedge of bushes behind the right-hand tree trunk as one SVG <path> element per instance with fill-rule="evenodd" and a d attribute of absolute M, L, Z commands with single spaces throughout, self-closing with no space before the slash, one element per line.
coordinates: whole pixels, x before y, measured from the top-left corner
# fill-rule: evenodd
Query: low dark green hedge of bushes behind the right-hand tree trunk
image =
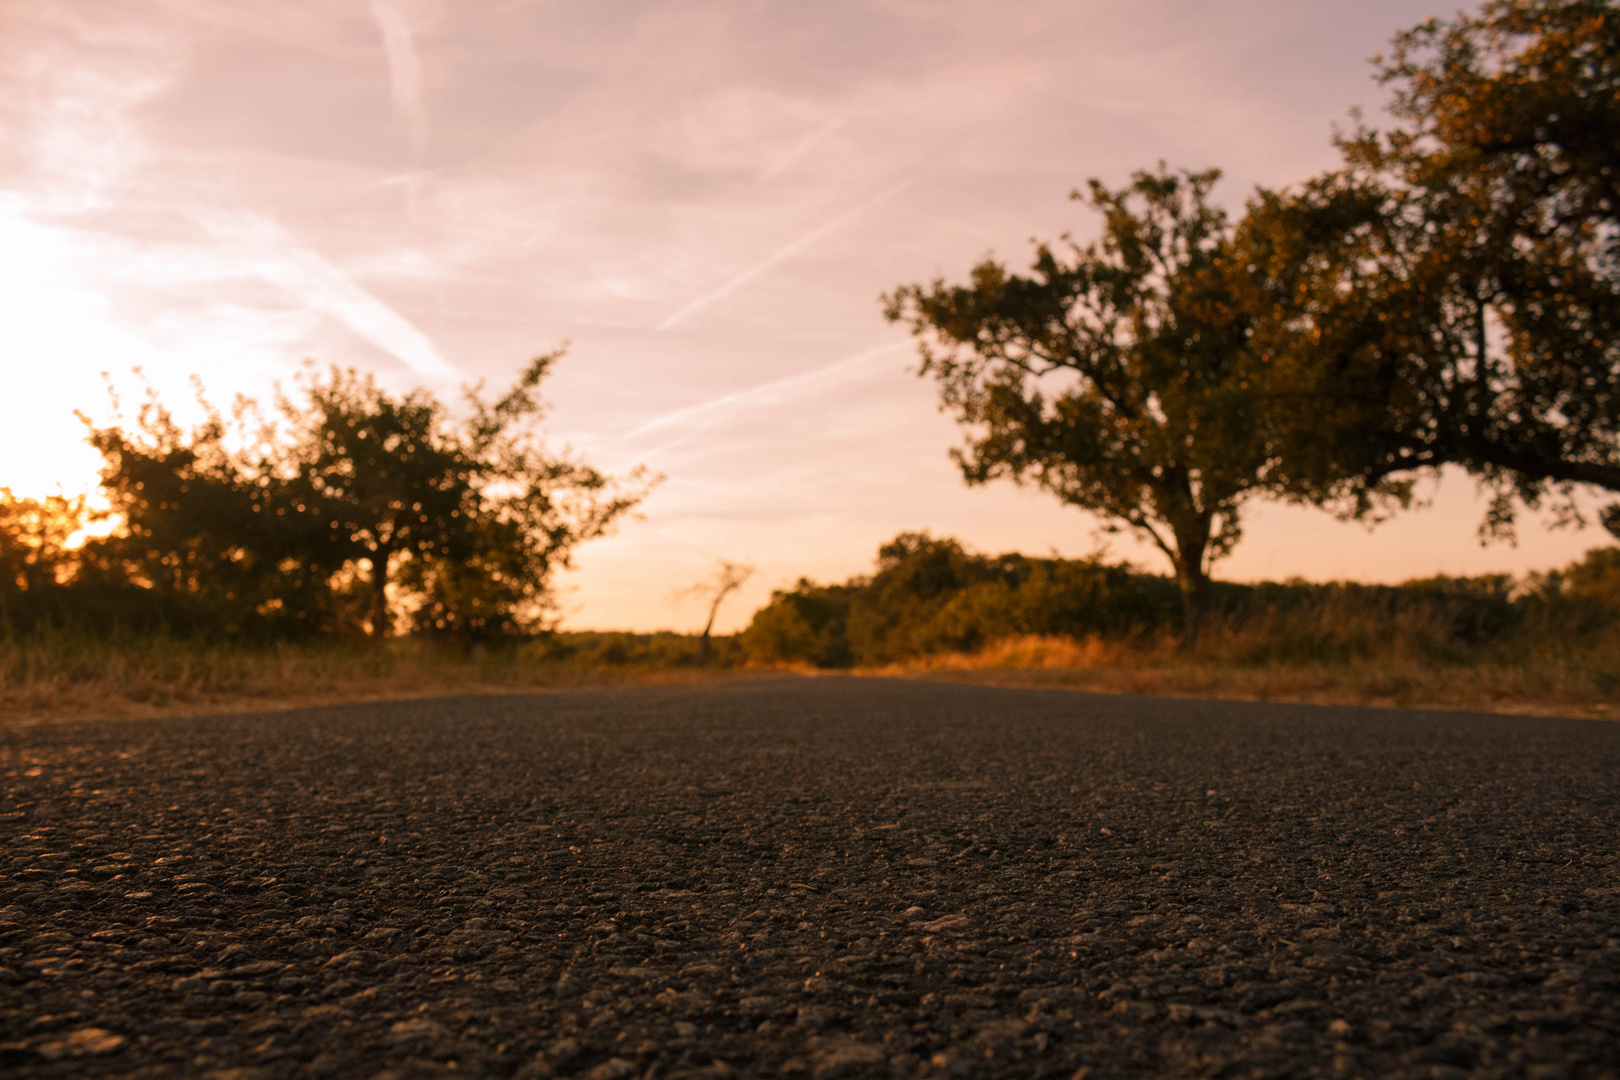
<path fill-rule="evenodd" d="M 740 635 L 753 662 L 867 667 L 972 653 L 1008 638 L 1100 638 L 1152 651 L 1179 630 L 1179 591 L 1162 575 L 1097 559 L 978 555 L 954 539 L 902 533 L 872 576 L 800 580 Z M 1515 581 L 1422 578 L 1398 586 L 1217 583 L 1200 644 L 1239 665 L 1375 661 L 1464 664 L 1486 651 L 1591 651 L 1620 627 L 1620 547 Z"/>

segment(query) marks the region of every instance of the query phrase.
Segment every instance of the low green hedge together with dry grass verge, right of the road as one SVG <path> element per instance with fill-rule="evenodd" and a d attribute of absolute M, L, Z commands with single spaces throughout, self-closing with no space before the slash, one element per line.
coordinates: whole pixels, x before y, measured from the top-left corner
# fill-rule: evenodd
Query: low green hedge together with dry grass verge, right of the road
<path fill-rule="evenodd" d="M 1123 693 L 1620 714 L 1620 547 L 1552 573 L 1215 581 L 1194 646 L 1174 578 L 907 533 L 872 575 L 781 589 L 747 662 Z"/>

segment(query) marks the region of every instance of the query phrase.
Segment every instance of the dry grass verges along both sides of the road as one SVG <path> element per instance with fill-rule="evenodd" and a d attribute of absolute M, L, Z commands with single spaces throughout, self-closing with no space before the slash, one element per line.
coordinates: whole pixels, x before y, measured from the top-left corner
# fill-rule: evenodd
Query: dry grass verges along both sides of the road
<path fill-rule="evenodd" d="M 384 648 L 246 649 L 151 640 L 73 636 L 0 641 L 0 724 L 259 712 L 300 706 L 465 693 L 536 693 L 627 685 L 700 685 L 761 674 L 816 672 L 659 664 L 569 664 L 522 651 L 463 656 L 413 643 Z M 995 687 L 1140 693 L 1241 701 L 1474 709 L 1534 716 L 1620 717 L 1615 680 L 1555 657 L 1520 664 L 1382 657 L 1336 662 L 1244 661 L 1234 640 L 1187 656 L 1171 640 L 1021 636 L 977 653 L 946 653 L 860 669 Z"/>

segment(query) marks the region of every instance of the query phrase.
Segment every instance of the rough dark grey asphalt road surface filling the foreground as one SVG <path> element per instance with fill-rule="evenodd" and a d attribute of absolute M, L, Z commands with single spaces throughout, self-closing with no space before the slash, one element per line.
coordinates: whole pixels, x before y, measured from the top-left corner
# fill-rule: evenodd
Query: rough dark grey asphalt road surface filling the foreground
<path fill-rule="evenodd" d="M 13 1077 L 1615 1077 L 1620 725 L 820 678 L 0 732 Z"/>

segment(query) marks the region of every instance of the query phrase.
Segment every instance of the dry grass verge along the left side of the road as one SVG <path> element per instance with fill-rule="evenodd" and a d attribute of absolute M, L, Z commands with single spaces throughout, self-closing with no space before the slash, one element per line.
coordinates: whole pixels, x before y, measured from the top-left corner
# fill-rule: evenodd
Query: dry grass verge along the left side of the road
<path fill-rule="evenodd" d="M 463 693 L 710 683 L 724 669 L 583 667 L 392 641 L 382 648 L 232 648 L 156 640 L 0 641 L 0 724 L 259 712 Z"/>

